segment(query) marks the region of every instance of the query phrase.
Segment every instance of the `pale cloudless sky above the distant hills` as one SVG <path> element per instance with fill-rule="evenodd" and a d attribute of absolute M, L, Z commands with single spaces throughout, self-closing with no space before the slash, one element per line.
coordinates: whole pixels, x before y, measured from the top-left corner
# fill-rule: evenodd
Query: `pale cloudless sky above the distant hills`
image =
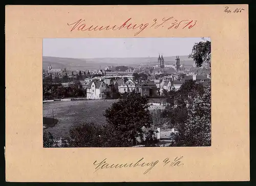
<path fill-rule="evenodd" d="M 210 40 L 210 38 L 205 38 Z M 202 38 L 45 38 L 42 55 L 61 58 L 187 56 Z"/>

